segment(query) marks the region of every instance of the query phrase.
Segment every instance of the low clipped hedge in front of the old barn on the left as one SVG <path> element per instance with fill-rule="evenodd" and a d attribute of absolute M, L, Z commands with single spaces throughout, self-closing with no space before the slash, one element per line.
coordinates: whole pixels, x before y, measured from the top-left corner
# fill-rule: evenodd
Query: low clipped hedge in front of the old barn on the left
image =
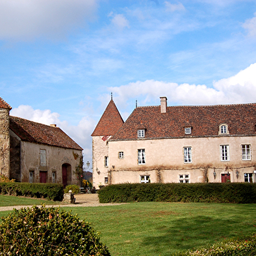
<path fill-rule="evenodd" d="M 2 195 L 22 195 L 25 197 L 44 198 L 48 200 L 61 201 L 63 199 L 62 184 L 42 183 L 16 183 L 1 182 L 0 193 Z"/>

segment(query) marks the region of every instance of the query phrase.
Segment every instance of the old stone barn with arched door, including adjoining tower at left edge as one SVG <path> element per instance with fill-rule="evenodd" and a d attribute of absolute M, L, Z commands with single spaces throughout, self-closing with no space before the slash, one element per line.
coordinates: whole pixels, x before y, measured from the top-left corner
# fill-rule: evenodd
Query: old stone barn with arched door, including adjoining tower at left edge
<path fill-rule="evenodd" d="M 16 182 L 79 184 L 82 148 L 56 125 L 9 116 L 0 98 L 0 174 Z"/>

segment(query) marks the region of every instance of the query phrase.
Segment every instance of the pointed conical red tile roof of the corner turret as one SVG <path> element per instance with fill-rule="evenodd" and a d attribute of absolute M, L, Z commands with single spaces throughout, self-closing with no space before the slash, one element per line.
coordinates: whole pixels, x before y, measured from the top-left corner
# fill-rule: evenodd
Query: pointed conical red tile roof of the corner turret
<path fill-rule="evenodd" d="M 112 136 L 122 125 L 123 118 L 121 118 L 116 104 L 111 100 L 91 136 Z"/>

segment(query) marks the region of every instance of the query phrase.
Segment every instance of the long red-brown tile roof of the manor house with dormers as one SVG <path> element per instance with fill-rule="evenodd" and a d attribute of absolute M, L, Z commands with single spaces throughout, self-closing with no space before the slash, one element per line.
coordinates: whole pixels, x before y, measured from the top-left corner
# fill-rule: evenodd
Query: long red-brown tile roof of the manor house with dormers
<path fill-rule="evenodd" d="M 168 106 L 167 113 L 161 113 L 160 106 L 140 106 L 111 140 L 137 139 L 137 129 L 142 124 L 145 138 L 221 136 L 221 123 L 228 125 L 227 136 L 256 136 L 256 104 Z M 184 133 L 187 126 L 192 127 L 190 135 Z"/>

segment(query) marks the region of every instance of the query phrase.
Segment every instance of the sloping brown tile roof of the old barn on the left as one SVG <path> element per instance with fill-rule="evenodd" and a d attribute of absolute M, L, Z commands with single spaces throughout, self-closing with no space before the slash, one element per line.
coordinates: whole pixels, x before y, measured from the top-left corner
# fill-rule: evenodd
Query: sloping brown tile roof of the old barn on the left
<path fill-rule="evenodd" d="M 24 141 L 83 150 L 58 127 L 10 116 L 10 129 Z"/>

